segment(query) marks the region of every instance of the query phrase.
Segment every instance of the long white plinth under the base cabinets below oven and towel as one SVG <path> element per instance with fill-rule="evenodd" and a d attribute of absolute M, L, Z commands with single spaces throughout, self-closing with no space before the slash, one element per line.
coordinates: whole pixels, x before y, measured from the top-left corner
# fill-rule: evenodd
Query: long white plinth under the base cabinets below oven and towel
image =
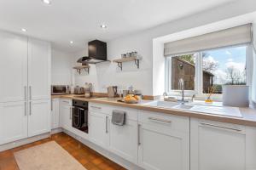
<path fill-rule="evenodd" d="M 83 143 L 86 146 L 90 147 L 90 149 L 96 150 L 98 153 L 102 154 L 102 156 L 108 157 L 108 159 L 118 163 L 120 166 L 125 167 L 126 169 L 130 169 L 130 170 L 143 170 L 142 167 L 138 167 L 134 163 L 131 163 L 130 161 L 126 161 L 122 157 L 117 156 L 117 155 L 113 154 L 112 152 L 110 152 L 108 150 L 105 150 L 105 149 L 103 149 L 102 147 L 100 147 L 100 146 L 98 146 L 96 144 L 91 143 L 89 140 L 81 138 L 79 135 L 71 133 L 71 132 L 67 131 L 66 129 L 63 129 L 63 132 L 67 133 L 69 136 L 72 136 L 74 139 L 79 140 L 81 143 Z"/>

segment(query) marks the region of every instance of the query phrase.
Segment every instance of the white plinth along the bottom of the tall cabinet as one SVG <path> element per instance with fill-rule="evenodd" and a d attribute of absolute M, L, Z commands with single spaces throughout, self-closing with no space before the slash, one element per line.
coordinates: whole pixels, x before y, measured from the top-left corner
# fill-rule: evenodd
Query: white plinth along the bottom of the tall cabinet
<path fill-rule="evenodd" d="M 2 145 L 0 145 L 0 151 L 10 150 L 10 149 L 18 147 L 20 145 L 30 144 L 30 143 L 36 142 L 38 140 L 47 139 L 47 138 L 49 138 L 49 135 L 50 135 L 49 133 L 44 133 L 44 134 L 40 134 L 38 136 L 33 136 L 31 138 L 17 140 L 15 142 L 10 142 L 8 144 L 2 144 Z"/>

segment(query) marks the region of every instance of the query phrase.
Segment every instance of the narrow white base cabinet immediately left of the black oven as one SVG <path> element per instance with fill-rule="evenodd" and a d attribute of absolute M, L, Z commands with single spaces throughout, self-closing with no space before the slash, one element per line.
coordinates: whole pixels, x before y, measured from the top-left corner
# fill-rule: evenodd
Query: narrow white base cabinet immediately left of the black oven
<path fill-rule="evenodd" d="M 62 128 L 72 131 L 72 100 L 60 99 L 60 125 Z"/>

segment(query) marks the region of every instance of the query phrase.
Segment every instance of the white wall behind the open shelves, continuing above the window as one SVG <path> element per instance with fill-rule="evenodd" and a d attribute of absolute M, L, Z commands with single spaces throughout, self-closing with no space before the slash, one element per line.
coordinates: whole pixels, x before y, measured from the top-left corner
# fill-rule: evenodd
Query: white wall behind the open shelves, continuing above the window
<path fill-rule="evenodd" d="M 136 65 L 132 62 L 125 63 L 123 65 L 123 71 L 119 71 L 117 65 L 113 63 L 91 65 L 90 75 L 78 75 L 74 73 L 74 82 L 79 85 L 84 84 L 84 82 L 93 82 L 95 84 L 95 90 L 98 92 L 106 92 L 105 88 L 108 85 L 118 85 L 120 88 L 133 85 L 135 88 L 141 89 L 143 94 L 162 94 L 164 85 L 159 86 L 159 84 L 154 83 L 158 82 L 159 79 L 161 81 L 163 80 L 162 74 L 164 72 L 162 68 L 163 65 L 156 66 L 155 68 L 158 69 L 153 70 L 153 62 L 158 61 L 158 59 L 163 60 L 160 58 L 162 54 L 154 53 L 153 55 L 154 38 L 188 30 L 190 28 L 205 26 L 253 11 L 256 11 L 255 0 L 240 0 L 222 7 L 212 8 L 212 10 L 207 10 L 201 14 L 191 15 L 182 20 L 175 20 L 147 31 L 120 37 L 108 42 L 108 59 L 116 59 L 120 57 L 120 54 L 137 51 L 143 57 L 139 70 L 137 70 Z M 85 51 L 82 54 L 86 53 Z M 81 52 L 73 55 L 75 59 L 79 58 L 77 54 L 81 54 Z M 161 71 L 155 72 L 159 70 Z M 160 88 L 160 90 L 155 88 Z"/>

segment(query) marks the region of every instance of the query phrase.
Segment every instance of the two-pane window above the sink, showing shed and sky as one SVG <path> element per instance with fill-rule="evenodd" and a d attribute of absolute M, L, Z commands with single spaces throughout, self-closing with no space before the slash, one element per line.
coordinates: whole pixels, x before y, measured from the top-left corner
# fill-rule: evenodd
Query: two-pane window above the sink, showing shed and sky
<path fill-rule="evenodd" d="M 222 94 L 222 85 L 247 83 L 247 46 L 218 48 L 166 58 L 166 91 L 184 89 L 197 94 Z"/>

